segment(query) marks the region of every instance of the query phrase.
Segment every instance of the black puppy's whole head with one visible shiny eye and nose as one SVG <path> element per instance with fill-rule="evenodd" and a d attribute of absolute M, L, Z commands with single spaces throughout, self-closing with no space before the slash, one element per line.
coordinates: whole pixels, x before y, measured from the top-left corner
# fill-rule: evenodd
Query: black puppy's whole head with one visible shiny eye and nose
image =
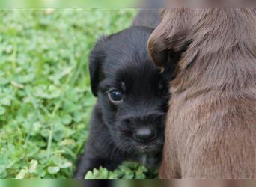
<path fill-rule="evenodd" d="M 147 28 L 104 38 L 91 52 L 91 84 L 103 120 L 125 153 L 162 150 L 168 91 L 147 54 Z"/>

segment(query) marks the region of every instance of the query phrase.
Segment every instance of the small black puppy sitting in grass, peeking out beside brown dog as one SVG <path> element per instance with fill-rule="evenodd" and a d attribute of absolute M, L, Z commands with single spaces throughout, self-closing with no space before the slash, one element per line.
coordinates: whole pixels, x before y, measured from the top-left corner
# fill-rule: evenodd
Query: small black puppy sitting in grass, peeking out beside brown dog
<path fill-rule="evenodd" d="M 147 53 L 153 29 L 132 26 L 101 38 L 91 52 L 91 89 L 97 104 L 76 178 L 124 160 L 153 167 L 161 160 L 167 84 Z"/>

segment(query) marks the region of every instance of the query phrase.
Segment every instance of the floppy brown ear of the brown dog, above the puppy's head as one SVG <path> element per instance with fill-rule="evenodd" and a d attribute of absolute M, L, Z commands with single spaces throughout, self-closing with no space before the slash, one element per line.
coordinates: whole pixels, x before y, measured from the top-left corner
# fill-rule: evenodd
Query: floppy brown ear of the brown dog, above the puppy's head
<path fill-rule="evenodd" d="M 189 9 L 162 10 L 162 22 L 150 35 L 147 49 L 157 67 L 177 61 L 191 42 L 192 12 Z"/>

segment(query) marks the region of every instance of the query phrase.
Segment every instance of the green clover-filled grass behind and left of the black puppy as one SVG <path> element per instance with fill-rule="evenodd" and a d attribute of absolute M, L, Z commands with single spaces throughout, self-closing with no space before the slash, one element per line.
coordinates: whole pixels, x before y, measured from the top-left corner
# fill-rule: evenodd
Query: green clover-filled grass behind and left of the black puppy
<path fill-rule="evenodd" d="M 1 178 L 72 177 L 95 102 L 88 54 L 136 12 L 1 11 Z"/>

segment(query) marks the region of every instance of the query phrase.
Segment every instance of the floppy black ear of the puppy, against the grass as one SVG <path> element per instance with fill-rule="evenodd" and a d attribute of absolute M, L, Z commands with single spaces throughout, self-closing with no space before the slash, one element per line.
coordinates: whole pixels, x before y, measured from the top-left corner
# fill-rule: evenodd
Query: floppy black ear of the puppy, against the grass
<path fill-rule="evenodd" d="M 90 53 L 89 70 L 91 77 L 91 91 L 94 96 L 97 96 L 99 83 L 103 79 L 102 66 L 106 58 L 106 48 L 104 45 L 106 40 L 107 37 L 100 37 Z"/>

